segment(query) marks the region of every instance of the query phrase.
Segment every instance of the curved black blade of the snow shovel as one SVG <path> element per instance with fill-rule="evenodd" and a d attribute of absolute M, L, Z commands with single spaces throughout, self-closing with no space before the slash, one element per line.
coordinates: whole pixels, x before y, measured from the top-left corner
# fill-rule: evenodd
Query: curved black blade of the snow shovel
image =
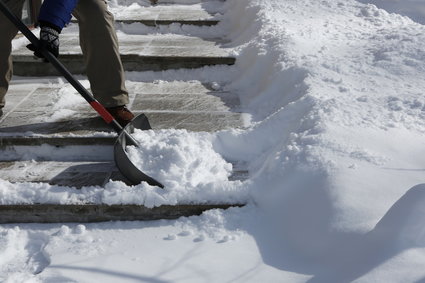
<path fill-rule="evenodd" d="M 133 164 L 130 158 L 128 158 L 126 146 L 133 145 L 133 143 L 128 139 L 128 134 L 133 133 L 134 129 L 150 130 L 152 127 L 149 124 L 148 118 L 144 114 L 138 115 L 124 127 L 124 130 L 118 135 L 118 139 L 114 146 L 115 163 L 118 169 L 121 174 L 123 174 L 124 177 L 126 177 L 134 185 L 140 184 L 141 182 L 147 182 L 151 186 L 164 188 L 164 185 L 143 173 Z"/>

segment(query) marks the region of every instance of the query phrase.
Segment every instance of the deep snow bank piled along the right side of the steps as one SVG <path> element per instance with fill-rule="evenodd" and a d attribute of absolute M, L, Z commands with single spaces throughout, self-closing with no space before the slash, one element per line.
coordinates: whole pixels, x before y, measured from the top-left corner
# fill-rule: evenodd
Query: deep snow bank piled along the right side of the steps
<path fill-rule="evenodd" d="M 425 180 L 425 28 L 356 1 L 234 0 L 226 10 L 243 70 L 229 89 L 256 123 L 216 146 L 249 161 L 284 245 L 333 258 Z"/>

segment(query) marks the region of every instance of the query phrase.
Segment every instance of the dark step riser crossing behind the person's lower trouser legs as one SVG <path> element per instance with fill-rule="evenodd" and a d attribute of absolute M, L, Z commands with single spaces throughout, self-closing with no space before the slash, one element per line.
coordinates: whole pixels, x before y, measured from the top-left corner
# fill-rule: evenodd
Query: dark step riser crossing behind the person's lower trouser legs
<path fill-rule="evenodd" d="M 81 55 L 62 55 L 60 61 L 72 74 L 85 74 Z M 128 72 L 165 71 L 173 69 L 196 69 L 214 65 L 234 65 L 235 59 L 229 57 L 141 57 L 121 56 L 124 69 Z M 18 76 L 59 76 L 58 71 L 32 56 L 13 56 L 14 74 Z"/>

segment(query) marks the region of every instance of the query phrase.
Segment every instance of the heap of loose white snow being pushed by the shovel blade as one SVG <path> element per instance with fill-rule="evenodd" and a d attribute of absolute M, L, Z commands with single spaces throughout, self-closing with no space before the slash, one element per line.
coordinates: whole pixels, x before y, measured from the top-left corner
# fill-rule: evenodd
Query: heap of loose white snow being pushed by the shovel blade
<path fill-rule="evenodd" d="M 134 137 L 140 148 L 128 147 L 132 162 L 171 190 L 219 185 L 232 173 L 232 165 L 214 151 L 208 133 L 138 130 Z"/>

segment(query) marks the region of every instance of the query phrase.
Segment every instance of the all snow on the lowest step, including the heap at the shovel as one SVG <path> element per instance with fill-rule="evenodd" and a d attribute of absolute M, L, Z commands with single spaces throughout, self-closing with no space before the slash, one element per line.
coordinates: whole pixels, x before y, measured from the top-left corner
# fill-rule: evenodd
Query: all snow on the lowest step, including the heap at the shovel
<path fill-rule="evenodd" d="M 214 135 L 186 130 L 136 131 L 141 147 L 128 147 L 132 161 L 146 174 L 165 185 L 165 189 L 142 183 L 127 186 L 109 182 L 104 188 L 82 189 L 41 183 L 12 184 L 0 179 L 0 204 L 140 204 L 147 207 L 164 204 L 246 203 L 249 189 L 241 181 L 229 181 L 233 166 L 214 150 Z M 96 156 L 113 156 L 110 147 L 55 148 L 16 147 L 4 152 L 4 159 L 90 160 Z M 32 162 L 32 161 L 29 161 Z M 24 165 L 21 165 L 24 166 Z M 20 168 L 26 170 L 25 167 Z M 31 171 L 28 172 L 31 174 Z M 30 176 L 29 176 L 30 177 Z"/>

